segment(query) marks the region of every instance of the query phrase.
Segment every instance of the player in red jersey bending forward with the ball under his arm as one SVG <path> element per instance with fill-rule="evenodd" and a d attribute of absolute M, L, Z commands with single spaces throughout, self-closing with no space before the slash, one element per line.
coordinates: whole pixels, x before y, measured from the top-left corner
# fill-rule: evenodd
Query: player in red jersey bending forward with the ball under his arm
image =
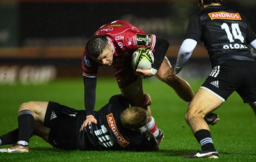
<path fill-rule="evenodd" d="M 154 64 L 149 70 L 136 70 L 135 74 L 131 65 L 131 56 L 135 50 L 141 47 L 152 50 Z M 145 33 L 140 28 L 123 20 L 116 20 L 100 27 L 86 44 L 82 60 L 84 106 L 86 108 L 86 120 L 83 125 L 87 126 L 91 122 L 97 123 L 93 110 L 95 107 L 98 66 L 100 64 L 113 66 L 116 82 L 122 95 L 131 101 L 131 105 L 143 107 L 148 111 L 150 117 L 147 128 L 160 142 L 163 138 L 163 132 L 156 127 L 156 122 L 150 115 L 150 109 L 143 103 L 142 78 L 156 75 L 159 80 L 170 85 L 178 96 L 187 103 L 194 96 L 186 80 L 177 75 L 172 75 L 173 68 L 165 56 L 168 47 L 167 40 L 155 34 Z M 209 114 L 207 122 L 215 124 L 216 121 L 218 121 L 218 115 Z"/>

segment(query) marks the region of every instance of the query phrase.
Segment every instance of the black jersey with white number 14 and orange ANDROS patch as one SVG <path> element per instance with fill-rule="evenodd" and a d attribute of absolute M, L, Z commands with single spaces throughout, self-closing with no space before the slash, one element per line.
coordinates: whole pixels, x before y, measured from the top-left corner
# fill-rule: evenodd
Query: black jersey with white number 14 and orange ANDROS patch
<path fill-rule="evenodd" d="M 212 66 L 227 60 L 253 61 L 248 44 L 256 39 L 246 17 L 224 6 L 208 6 L 191 16 L 186 39 L 202 41 Z"/>

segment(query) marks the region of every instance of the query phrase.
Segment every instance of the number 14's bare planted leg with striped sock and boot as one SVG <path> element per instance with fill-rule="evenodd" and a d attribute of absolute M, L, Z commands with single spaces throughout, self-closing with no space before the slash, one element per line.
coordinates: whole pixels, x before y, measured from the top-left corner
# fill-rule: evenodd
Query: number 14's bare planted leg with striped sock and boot
<path fill-rule="evenodd" d="M 196 92 L 195 97 L 189 104 L 185 119 L 200 144 L 202 151 L 198 152 L 197 155 L 193 154 L 185 156 L 184 158 L 193 158 L 195 156 L 212 156 L 212 158 L 218 158 L 218 152 L 216 152 L 214 148 L 209 126 L 205 122 L 204 117 L 206 114 L 209 114 L 209 112 L 220 107 L 222 103 L 223 100 L 216 96 L 216 94 L 204 88 L 200 88 L 198 92 Z"/>

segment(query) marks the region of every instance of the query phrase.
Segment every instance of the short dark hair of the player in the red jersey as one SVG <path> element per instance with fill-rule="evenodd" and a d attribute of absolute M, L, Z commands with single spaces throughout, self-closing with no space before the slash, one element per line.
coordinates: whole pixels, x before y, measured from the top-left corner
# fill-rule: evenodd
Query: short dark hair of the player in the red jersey
<path fill-rule="evenodd" d="M 93 36 L 86 44 L 86 51 L 90 57 L 96 59 L 108 46 L 108 39 L 104 35 Z"/>

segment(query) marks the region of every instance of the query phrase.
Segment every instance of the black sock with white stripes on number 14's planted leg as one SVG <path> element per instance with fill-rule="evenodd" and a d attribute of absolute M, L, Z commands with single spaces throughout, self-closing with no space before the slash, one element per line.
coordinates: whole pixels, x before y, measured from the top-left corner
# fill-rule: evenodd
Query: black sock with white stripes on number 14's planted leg
<path fill-rule="evenodd" d="M 216 151 L 212 142 L 211 133 L 207 129 L 196 131 L 195 138 L 200 144 L 202 151 Z"/>

